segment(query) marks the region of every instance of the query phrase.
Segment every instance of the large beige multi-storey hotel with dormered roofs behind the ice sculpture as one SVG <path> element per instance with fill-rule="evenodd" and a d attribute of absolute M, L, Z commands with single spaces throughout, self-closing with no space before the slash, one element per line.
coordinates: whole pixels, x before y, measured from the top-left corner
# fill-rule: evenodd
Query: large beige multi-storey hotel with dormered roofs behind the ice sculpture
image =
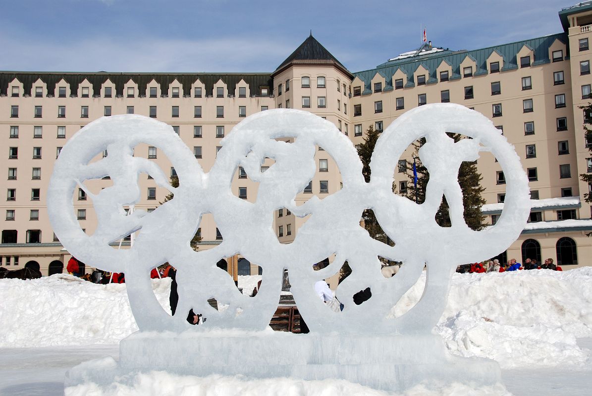
<path fill-rule="evenodd" d="M 47 218 L 47 188 L 61 147 L 99 117 L 134 113 L 172 125 L 207 172 L 220 140 L 255 112 L 281 107 L 310 111 L 332 121 L 357 145 L 370 125 L 383 130 L 417 106 L 454 102 L 474 108 L 503 130 L 529 176 L 529 224 L 500 258 L 552 257 L 564 269 L 592 265 L 592 238 L 587 237 L 592 206 L 584 201 L 590 186 L 579 178 L 592 172 L 592 140 L 583 131 L 592 114 L 578 108 L 591 101 L 592 2 L 559 11 L 559 21 L 558 34 L 477 50 L 426 43 L 361 72 L 350 72 L 312 36 L 272 73 L 0 72 L 0 172 L 5 172 L 5 179 L 0 178 L 5 180 L 0 264 L 8 269 L 39 266 L 43 275 L 65 272 L 70 256 Z M 395 172 L 398 194 L 413 188 L 405 166 L 411 153 L 410 148 L 400 159 L 401 172 Z M 174 174 L 155 147 L 140 145 L 135 154 Z M 316 159 L 318 172 L 297 202 L 340 188 L 330 156 L 317 150 Z M 503 208 L 505 178 L 491 156 L 482 155 L 477 165 L 486 221 L 495 223 Z M 86 185 L 98 191 L 110 183 Z M 136 208 L 153 210 L 168 194 L 146 175 L 139 185 L 144 194 Z M 256 197 L 257 185 L 242 169 L 232 188 L 237 197 Z M 96 227 L 91 200 L 79 191 L 73 204 L 81 228 L 91 234 Z M 275 218 L 279 241 L 294 240 L 303 219 L 286 209 Z M 200 249 L 223 238 L 208 214 L 200 233 Z M 124 240 L 123 246 L 129 243 Z M 235 277 L 257 271 L 255 264 L 236 256 L 227 261 Z"/>

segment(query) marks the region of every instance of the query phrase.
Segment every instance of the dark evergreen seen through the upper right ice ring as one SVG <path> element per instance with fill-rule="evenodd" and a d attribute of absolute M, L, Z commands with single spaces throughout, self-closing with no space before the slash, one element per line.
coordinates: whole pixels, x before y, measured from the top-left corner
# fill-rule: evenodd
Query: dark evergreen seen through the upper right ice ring
<path fill-rule="evenodd" d="M 459 134 L 449 133 L 448 136 L 455 142 L 462 139 L 462 136 Z M 426 139 L 422 138 L 413 145 L 415 149 L 413 155 L 416 157 L 417 170 L 417 202 L 419 204 L 422 204 L 426 199 L 427 182 L 430 180 L 427 168 L 422 165 L 418 155 L 420 147 L 425 143 Z M 412 201 L 415 201 L 416 192 L 413 187 L 413 163 L 408 164 L 407 169 L 407 176 L 410 179 L 409 185 L 411 187 L 407 188 L 406 196 Z M 486 202 L 481 196 L 481 193 L 485 190 L 485 188 L 481 186 L 482 179 L 481 173 L 477 170 L 476 162 L 463 162 L 461 164 L 461 167 L 458 170 L 458 183 L 462 190 L 462 204 L 465 208 L 464 217 L 466 225 L 473 230 L 481 230 L 482 228 L 485 228 L 485 225 L 483 224 L 485 215 L 481 213 L 481 207 Z M 436 223 L 440 227 L 451 226 L 452 223 L 448 211 L 448 202 L 446 202 L 445 197 L 442 197 L 442 203 L 436 213 Z"/>

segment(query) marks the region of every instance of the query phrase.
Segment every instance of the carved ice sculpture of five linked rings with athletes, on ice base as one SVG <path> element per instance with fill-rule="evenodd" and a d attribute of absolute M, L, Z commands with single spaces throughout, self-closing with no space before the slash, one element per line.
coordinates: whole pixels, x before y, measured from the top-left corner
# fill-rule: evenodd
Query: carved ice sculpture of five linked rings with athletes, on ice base
<path fill-rule="evenodd" d="M 472 139 L 454 143 L 446 132 Z M 294 143 L 278 140 L 286 137 Z M 426 201 L 418 205 L 393 194 L 392 183 L 398 159 L 421 137 L 427 143 L 419 154 L 430 181 Z M 157 147 L 170 159 L 179 176 L 178 188 L 168 185 L 153 162 L 133 156 L 133 147 L 139 143 Z M 403 389 L 425 375 L 449 378 L 461 366 L 465 377 L 484 382 L 498 379 L 492 375 L 498 373 L 494 362 L 452 359 L 432 334 L 456 266 L 506 249 L 529 214 L 529 188 L 519 157 L 491 121 L 455 104 L 408 111 L 379 138 L 369 183 L 363 179 L 361 160 L 348 137 L 309 112 L 260 112 L 236 125 L 221 144 L 213 168 L 204 173 L 171 127 L 140 115 L 118 115 L 82 128 L 56 160 L 48 210 L 57 237 L 84 262 L 126 273 L 140 331 L 121 342 L 120 371 L 152 368 L 200 375 L 337 377 L 383 389 Z M 317 146 L 336 162 L 343 188 L 297 206 L 296 195 L 316 172 Z M 105 149 L 108 156 L 91 163 Z M 457 173 L 462 161 L 474 161 L 480 152 L 491 152 L 498 159 L 506 176 L 506 200 L 495 226 L 473 231 L 462 217 Z M 275 163 L 261 172 L 265 157 Z M 231 192 L 239 166 L 259 182 L 255 202 Z M 126 215 L 124 205 L 140 199 L 140 173 L 149 174 L 175 196 L 152 213 L 136 210 Z M 84 181 L 104 176 L 110 176 L 113 185 L 91 195 L 98 227 L 87 235 L 75 217 L 73 193 L 85 188 Z M 452 227 L 440 227 L 434 218 L 442 195 L 451 206 Z M 273 227 L 275 210 L 284 207 L 298 217 L 310 216 L 291 244 L 279 243 Z M 372 239 L 359 226 L 367 208 L 374 210 L 394 247 Z M 189 241 L 204 213 L 213 214 L 224 241 L 194 252 Z M 134 231 L 137 237 L 131 249 L 109 246 Z M 216 266 L 221 258 L 236 253 L 263 268 L 263 282 L 254 298 L 240 294 L 230 276 Z M 331 265 L 313 270 L 314 263 L 333 254 Z M 404 265 L 387 279 L 378 256 Z M 336 313 L 318 299 L 313 285 L 339 271 L 346 260 L 352 274 L 337 289 L 345 308 Z M 184 315 L 171 317 L 156 301 L 150 269 L 167 261 L 184 280 L 179 282 L 177 310 L 200 312 L 208 318 L 206 323 L 189 326 Z M 391 308 L 415 284 L 424 266 L 428 276 L 422 299 L 406 314 L 391 317 Z M 310 334 L 265 331 L 278 304 L 284 269 Z M 353 294 L 366 287 L 373 297 L 353 304 Z M 207 302 L 210 298 L 226 309 L 214 310 Z M 162 336 L 163 331 L 177 335 Z"/>

